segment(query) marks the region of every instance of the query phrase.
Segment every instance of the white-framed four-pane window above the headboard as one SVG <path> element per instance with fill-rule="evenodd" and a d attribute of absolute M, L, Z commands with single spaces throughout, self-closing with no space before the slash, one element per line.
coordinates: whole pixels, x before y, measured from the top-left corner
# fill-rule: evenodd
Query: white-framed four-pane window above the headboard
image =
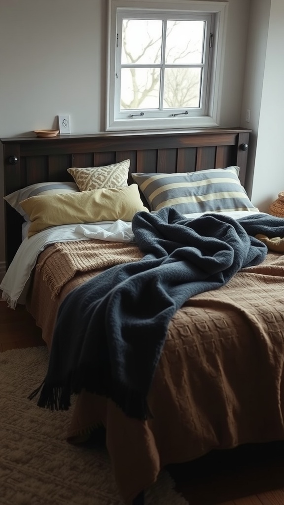
<path fill-rule="evenodd" d="M 106 129 L 217 126 L 226 2 L 109 7 Z"/>

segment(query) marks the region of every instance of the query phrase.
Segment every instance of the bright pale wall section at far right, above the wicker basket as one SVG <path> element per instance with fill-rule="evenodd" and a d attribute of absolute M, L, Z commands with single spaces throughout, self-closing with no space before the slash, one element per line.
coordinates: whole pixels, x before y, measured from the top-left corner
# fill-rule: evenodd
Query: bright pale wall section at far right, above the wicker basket
<path fill-rule="evenodd" d="M 255 2 L 258 4 L 258 2 Z M 260 210 L 284 190 L 284 2 L 271 0 L 252 199 Z"/>

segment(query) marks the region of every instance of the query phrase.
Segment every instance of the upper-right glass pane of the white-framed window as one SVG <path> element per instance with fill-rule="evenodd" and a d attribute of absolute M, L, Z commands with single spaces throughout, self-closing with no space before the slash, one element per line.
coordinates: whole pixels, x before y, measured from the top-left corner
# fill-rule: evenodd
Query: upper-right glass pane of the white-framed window
<path fill-rule="evenodd" d="M 202 63 L 204 21 L 168 21 L 166 64 Z"/>

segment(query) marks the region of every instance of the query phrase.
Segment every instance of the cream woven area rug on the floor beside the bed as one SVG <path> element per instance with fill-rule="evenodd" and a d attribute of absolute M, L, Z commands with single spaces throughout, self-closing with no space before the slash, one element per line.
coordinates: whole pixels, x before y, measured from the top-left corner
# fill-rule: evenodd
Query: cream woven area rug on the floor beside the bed
<path fill-rule="evenodd" d="M 44 346 L 0 353 L 1 505 L 124 505 L 105 447 L 73 446 L 70 412 L 40 409 L 27 396 L 43 380 Z M 162 471 L 146 505 L 187 505 Z"/>

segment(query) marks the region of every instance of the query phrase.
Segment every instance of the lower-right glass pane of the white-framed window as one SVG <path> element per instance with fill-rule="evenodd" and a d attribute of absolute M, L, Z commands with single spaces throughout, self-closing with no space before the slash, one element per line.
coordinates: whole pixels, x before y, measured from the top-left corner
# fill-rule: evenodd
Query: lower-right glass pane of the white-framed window
<path fill-rule="evenodd" d="M 200 107 L 201 68 L 166 68 L 164 109 Z"/>

